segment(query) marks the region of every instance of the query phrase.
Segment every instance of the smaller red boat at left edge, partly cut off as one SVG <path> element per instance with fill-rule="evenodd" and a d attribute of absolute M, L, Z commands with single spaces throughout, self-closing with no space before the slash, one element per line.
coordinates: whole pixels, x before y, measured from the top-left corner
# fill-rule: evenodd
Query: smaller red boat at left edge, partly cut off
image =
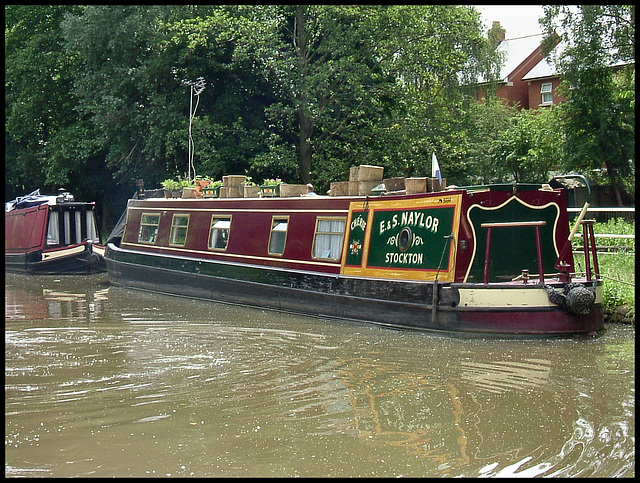
<path fill-rule="evenodd" d="M 5 270 L 37 275 L 106 271 L 95 203 L 36 190 L 5 203 Z"/>

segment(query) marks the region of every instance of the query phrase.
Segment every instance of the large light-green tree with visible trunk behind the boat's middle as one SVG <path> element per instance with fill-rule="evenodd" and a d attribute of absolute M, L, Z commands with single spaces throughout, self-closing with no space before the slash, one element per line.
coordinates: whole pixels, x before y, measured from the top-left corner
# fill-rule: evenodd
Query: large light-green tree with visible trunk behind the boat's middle
<path fill-rule="evenodd" d="M 477 12 L 449 5 L 225 7 L 184 27 L 194 50 L 228 32 L 232 62 L 250 59 L 244 73 L 270 88 L 267 150 L 249 169 L 327 187 L 358 163 L 424 169 L 464 115 L 461 74 L 487 54 Z"/>

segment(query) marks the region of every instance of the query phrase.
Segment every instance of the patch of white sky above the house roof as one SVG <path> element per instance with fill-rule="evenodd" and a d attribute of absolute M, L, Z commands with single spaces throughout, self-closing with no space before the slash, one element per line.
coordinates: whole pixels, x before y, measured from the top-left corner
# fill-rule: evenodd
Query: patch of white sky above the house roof
<path fill-rule="evenodd" d="M 482 14 L 487 29 L 494 20 L 500 22 L 507 39 L 542 33 L 538 19 L 542 16 L 542 5 L 474 5 Z"/>

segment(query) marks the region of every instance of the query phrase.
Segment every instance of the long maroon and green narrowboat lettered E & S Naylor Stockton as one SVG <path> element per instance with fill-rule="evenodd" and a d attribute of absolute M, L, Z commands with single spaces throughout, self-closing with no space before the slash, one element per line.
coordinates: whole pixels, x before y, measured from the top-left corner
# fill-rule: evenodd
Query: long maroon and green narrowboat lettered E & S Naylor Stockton
<path fill-rule="evenodd" d="M 110 282 L 133 289 L 393 328 L 596 335 L 603 280 L 587 207 L 570 229 L 565 188 L 525 183 L 135 197 L 105 259 Z M 571 243 L 580 227 L 584 272 Z"/>

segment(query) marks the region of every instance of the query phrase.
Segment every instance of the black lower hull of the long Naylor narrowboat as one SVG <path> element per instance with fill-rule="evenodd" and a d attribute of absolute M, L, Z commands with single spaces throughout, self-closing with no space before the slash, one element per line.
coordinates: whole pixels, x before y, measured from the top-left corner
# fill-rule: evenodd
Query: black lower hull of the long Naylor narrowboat
<path fill-rule="evenodd" d="M 296 272 L 150 255 L 112 244 L 107 247 L 106 265 L 114 285 L 397 328 L 483 336 L 571 335 L 602 329 L 600 306 L 591 316 L 580 318 L 554 306 L 463 307 L 463 284 Z"/>

